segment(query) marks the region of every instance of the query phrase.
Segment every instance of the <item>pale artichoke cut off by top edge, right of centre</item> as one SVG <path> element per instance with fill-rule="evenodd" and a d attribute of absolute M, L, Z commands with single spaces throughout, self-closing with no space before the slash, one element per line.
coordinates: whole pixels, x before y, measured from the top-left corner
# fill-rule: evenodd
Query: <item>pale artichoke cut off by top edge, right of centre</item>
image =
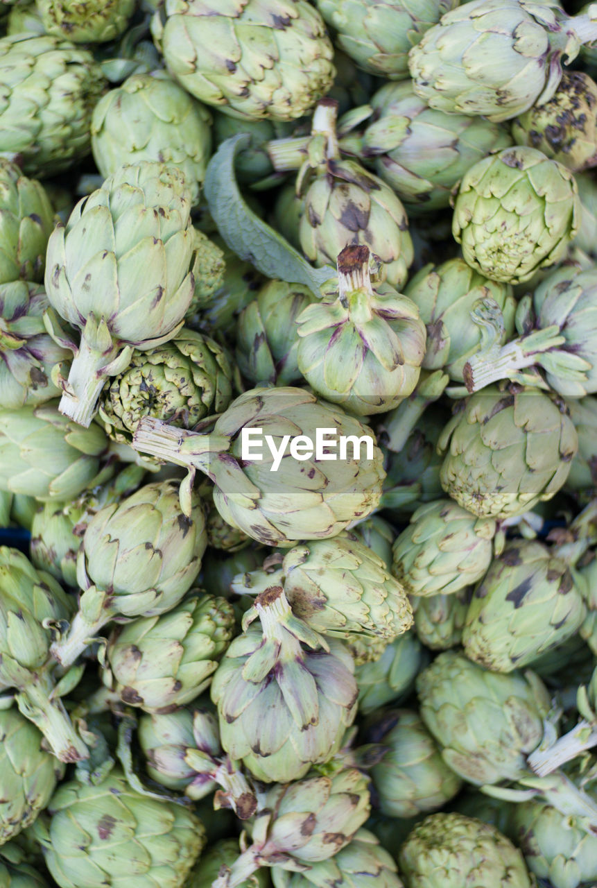
<path fill-rule="evenodd" d="M 408 52 L 459 0 L 316 0 L 335 43 L 370 74 L 408 77 Z"/>

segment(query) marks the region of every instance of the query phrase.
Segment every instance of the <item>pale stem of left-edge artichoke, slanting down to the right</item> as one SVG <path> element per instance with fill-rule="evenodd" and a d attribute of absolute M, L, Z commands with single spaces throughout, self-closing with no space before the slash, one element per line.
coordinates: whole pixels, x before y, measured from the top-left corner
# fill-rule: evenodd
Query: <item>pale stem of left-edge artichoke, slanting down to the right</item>
<path fill-rule="evenodd" d="M 64 703 L 59 698 L 51 699 L 52 690 L 47 673 L 35 676 L 34 681 L 16 695 L 20 711 L 39 728 L 61 762 L 89 758 L 89 749 L 76 733 Z"/>

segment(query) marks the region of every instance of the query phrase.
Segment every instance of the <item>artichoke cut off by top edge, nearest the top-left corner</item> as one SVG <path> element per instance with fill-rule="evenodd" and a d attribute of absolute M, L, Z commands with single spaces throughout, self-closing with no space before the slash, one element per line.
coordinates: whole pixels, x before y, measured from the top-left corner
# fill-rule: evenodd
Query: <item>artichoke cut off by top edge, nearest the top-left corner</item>
<path fill-rule="evenodd" d="M 135 0 L 35 0 L 48 34 L 74 44 L 101 44 L 127 29 Z"/>

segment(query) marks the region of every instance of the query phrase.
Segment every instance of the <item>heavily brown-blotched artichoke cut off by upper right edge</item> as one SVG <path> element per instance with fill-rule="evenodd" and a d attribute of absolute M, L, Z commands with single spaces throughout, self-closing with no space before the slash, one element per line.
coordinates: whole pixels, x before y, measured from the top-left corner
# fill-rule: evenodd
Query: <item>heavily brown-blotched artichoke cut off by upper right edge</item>
<path fill-rule="evenodd" d="M 582 71 L 565 71 L 549 101 L 512 122 L 516 145 L 538 148 L 572 172 L 597 163 L 597 83 Z"/>

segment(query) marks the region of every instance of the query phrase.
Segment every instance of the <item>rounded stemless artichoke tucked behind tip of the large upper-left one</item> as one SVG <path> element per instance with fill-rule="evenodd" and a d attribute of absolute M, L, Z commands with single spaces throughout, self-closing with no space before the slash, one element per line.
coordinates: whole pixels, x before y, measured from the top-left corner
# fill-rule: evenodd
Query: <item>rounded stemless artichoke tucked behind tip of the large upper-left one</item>
<path fill-rule="evenodd" d="M 211 154 L 211 115 L 165 71 L 134 74 L 99 99 L 91 117 L 91 149 L 102 176 L 125 163 L 177 166 L 199 202 Z"/>

